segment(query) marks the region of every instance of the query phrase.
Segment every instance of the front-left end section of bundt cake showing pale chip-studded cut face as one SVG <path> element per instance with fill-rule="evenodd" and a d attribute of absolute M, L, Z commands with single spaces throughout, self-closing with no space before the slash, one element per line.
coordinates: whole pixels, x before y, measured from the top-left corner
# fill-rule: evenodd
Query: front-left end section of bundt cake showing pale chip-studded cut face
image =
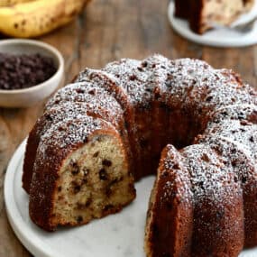
<path fill-rule="evenodd" d="M 87 224 L 135 197 L 123 142 L 115 127 L 85 116 L 54 124 L 41 136 L 29 212 L 44 230 Z"/>

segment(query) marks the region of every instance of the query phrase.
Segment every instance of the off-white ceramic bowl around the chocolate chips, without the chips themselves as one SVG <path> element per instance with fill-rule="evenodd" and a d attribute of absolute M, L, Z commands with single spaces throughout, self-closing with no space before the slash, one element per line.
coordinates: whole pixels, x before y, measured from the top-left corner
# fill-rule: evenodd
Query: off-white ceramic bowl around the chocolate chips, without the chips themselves
<path fill-rule="evenodd" d="M 14 90 L 0 89 L 0 106 L 33 106 L 50 96 L 59 86 L 64 73 L 64 60 L 60 51 L 49 44 L 33 40 L 4 40 L 0 41 L 0 52 L 11 54 L 40 53 L 43 56 L 52 58 L 57 69 L 51 78 L 33 87 Z"/>

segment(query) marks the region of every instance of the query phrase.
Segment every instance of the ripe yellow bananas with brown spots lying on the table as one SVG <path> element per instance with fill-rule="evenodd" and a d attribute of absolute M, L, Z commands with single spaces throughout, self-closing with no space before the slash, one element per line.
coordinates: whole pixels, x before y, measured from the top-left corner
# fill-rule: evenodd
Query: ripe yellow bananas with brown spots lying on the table
<path fill-rule="evenodd" d="M 89 0 L 0 0 L 0 32 L 19 38 L 50 32 L 78 15 Z"/>

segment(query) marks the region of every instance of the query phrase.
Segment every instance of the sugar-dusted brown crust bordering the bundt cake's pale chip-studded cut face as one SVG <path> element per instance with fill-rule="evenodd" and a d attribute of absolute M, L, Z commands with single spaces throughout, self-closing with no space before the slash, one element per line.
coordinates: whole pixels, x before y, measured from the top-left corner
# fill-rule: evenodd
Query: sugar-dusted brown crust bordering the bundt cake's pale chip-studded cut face
<path fill-rule="evenodd" d="M 57 226 L 52 222 L 55 218 L 53 207 L 54 196 L 60 190 L 57 180 L 59 179 L 62 162 L 72 151 L 78 149 L 85 142 L 92 142 L 93 139 L 101 140 L 100 137 L 104 135 L 115 136 L 121 144 L 122 142 L 115 127 L 104 120 L 93 119 L 90 116 L 59 123 L 49 133 L 41 139 L 39 149 L 44 148 L 44 151 L 38 152 L 38 158 L 34 162 L 36 169 L 34 169 L 32 176 L 29 209 L 30 216 L 37 225 L 45 230 L 52 231 Z M 74 137 L 75 133 L 77 133 L 76 137 Z M 115 213 L 120 209 L 121 207 L 103 209 L 102 216 Z M 87 221 L 76 220 L 68 224 L 65 220 L 60 220 L 59 225 L 86 223 Z"/>

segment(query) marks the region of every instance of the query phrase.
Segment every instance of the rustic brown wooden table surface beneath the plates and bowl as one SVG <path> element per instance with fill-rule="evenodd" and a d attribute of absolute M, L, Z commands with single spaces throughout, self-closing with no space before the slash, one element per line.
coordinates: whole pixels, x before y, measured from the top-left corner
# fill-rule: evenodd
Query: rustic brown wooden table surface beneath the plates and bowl
<path fill-rule="evenodd" d="M 168 0 L 93 0 L 76 21 L 39 40 L 57 47 L 66 60 L 65 83 L 84 67 L 100 68 L 120 58 L 142 59 L 159 52 L 170 59 L 192 57 L 230 68 L 256 87 L 257 46 L 202 47 L 170 28 Z M 27 109 L 0 109 L 0 257 L 31 256 L 8 224 L 3 196 L 7 162 L 41 115 L 43 103 Z"/>

